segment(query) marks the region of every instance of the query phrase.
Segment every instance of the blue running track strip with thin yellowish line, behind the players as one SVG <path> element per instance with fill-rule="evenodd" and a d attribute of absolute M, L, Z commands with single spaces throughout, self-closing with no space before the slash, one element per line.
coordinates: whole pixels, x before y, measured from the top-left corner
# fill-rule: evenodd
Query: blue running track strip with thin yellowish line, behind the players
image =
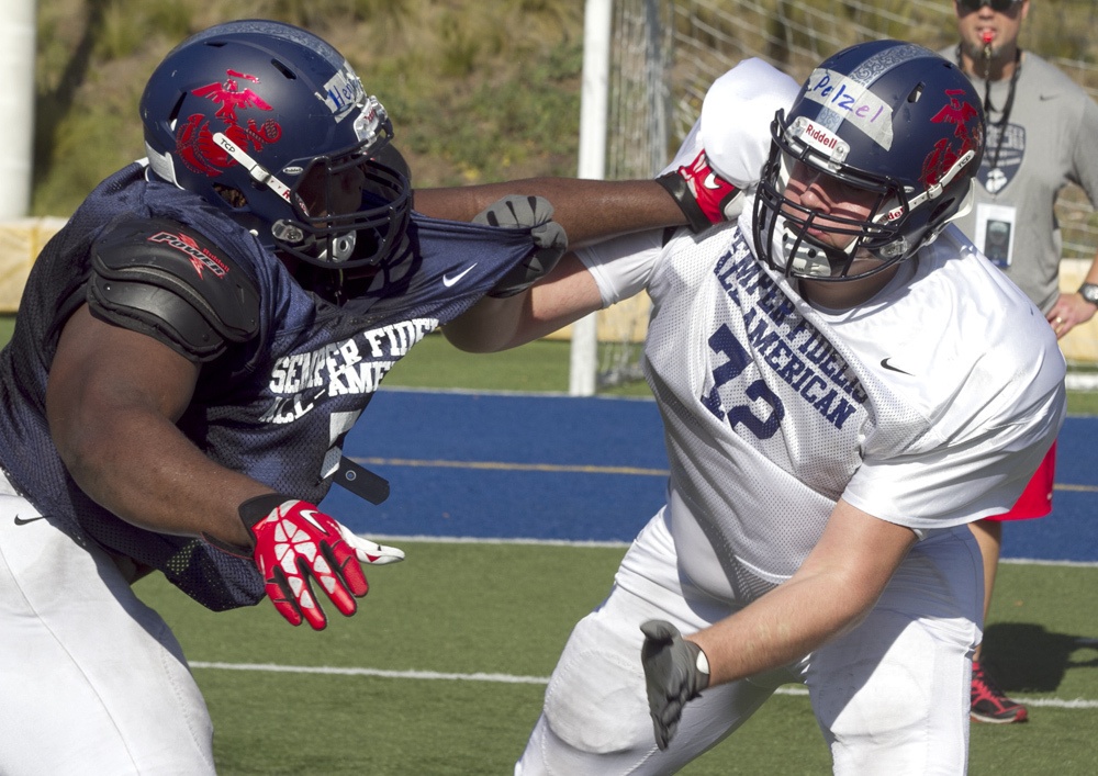
<path fill-rule="evenodd" d="M 1098 562 L 1098 418 L 1060 437 L 1053 513 L 1011 522 L 1002 556 Z M 628 542 L 663 504 L 651 400 L 383 389 L 345 454 L 389 480 L 373 506 L 341 487 L 325 508 L 367 536 Z"/>

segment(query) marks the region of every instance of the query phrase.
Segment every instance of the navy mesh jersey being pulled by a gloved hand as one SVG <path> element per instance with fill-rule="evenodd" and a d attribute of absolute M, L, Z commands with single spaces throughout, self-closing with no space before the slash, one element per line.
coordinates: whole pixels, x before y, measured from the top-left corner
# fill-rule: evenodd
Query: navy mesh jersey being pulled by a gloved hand
<path fill-rule="evenodd" d="M 327 493 L 343 439 L 384 374 L 524 259 L 533 248 L 529 230 L 415 214 L 411 254 L 336 306 L 302 290 L 227 216 L 193 194 L 146 181 L 144 168 L 132 165 L 103 181 L 43 249 L 12 340 L 0 351 L 0 464 L 42 514 L 81 540 L 160 570 L 211 609 L 251 605 L 264 586 L 250 561 L 114 517 L 80 491 L 49 437 L 46 378 L 65 320 L 85 302 L 91 246 L 111 224 L 133 217 L 197 229 L 259 289 L 258 335 L 202 365 L 179 427 L 217 463 L 313 503 Z"/>

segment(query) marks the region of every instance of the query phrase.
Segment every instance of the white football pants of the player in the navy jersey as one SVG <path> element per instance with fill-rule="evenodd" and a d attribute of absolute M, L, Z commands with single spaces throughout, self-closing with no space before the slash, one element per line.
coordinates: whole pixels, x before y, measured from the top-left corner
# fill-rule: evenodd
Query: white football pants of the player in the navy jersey
<path fill-rule="evenodd" d="M 5 776 L 214 773 L 210 715 L 167 623 L 2 475 L 0 731 Z"/>

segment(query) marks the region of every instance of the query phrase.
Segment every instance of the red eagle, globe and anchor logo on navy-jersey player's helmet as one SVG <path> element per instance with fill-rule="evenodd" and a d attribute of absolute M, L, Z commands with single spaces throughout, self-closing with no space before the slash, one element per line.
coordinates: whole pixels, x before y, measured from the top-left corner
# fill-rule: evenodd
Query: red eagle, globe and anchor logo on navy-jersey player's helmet
<path fill-rule="evenodd" d="M 259 78 L 236 70 L 226 70 L 225 75 L 223 83 L 210 83 L 191 92 L 194 97 L 206 98 L 219 105 L 214 117 L 224 122 L 224 128 L 220 128 L 220 132 L 240 148 L 250 146 L 257 154 L 265 146 L 278 143 L 282 136 L 282 127 L 273 119 L 267 119 L 260 124 L 248 117 L 247 123 L 242 124 L 236 115 L 237 111 L 274 110 L 247 86 L 240 88 L 242 80 L 259 83 Z M 212 128 L 211 119 L 202 113 L 192 113 L 176 132 L 176 151 L 190 170 L 216 178 L 223 170 L 237 164 L 214 140 L 213 136 L 217 131 L 216 127 Z"/>

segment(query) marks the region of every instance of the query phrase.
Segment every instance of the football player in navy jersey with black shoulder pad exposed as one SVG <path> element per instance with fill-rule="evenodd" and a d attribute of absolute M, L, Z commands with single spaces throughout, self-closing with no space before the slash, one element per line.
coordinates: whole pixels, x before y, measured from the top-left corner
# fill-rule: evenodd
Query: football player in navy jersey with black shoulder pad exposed
<path fill-rule="evenodd" d="M 4 774 L 213 773 L 205 705 L 131 583 L 159 571 L 213 610 L 266 595 L 314 629 L 354 614 L 363 564 L 403 553 L 315 505 L 334 482 L 385 496 L 340 446 L 393 363 L 551 269 L 562 224 L 685 221 L 652 181 L 576 182 L 618 198 L 597 221 L 531 195 L 413 212 L 384 108 L 288 24 L 188 38 L 141 117 L 147 158 L 44 248 L 0 352 Z"/>

